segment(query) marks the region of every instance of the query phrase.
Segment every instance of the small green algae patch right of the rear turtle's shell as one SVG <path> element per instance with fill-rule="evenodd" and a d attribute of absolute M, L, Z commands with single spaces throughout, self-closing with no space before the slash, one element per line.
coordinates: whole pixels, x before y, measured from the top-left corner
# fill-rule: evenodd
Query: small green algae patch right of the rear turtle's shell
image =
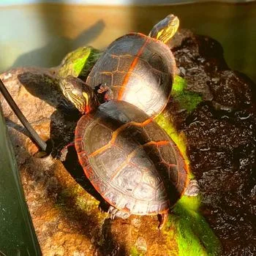
<path fill-rule="evenodd" d="M 176 75 L 173 81 L 171 96 L 173 97 L 181 109 L 186 109 L 192 112 L 197 105 L 202 101 L 202 97 L 192 91 L 187 91 L 187 81 L 184 78 Z"/>

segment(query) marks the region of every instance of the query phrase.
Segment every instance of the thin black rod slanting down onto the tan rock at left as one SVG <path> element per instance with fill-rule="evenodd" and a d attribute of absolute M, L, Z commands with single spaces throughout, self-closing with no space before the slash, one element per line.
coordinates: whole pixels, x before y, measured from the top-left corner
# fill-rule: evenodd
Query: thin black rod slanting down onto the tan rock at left
<path fill-rule="evenodd" d="M 6 99 L 7 103 L 12 108 L 12 111 L 19 118 L 19 120 L 23 124 L 23 126 L 28 130 L 29 138 L 31 138 L 31 140 L 33 140 L 34 143 L 37 143 L 37 146 L 39 146 L 39 148 L 41 148 L 42 151 L 45 151 L 46 147 L 47 147 L 47 144 L 45 143 L 45 141 L 43 141 L 39 137 L 39 135 L 34 130 L 34 128 L 31 127 L 31 124 L 29 124 L 29 121 L 26 119 L 26 117 L 20 111 L 20 108 L 18 108 L 18 105 L 12 99 L 12 96 L 10 95 L 9 91 L 7 91 L 7 88 L 4 86 L 4 83 L 3 83 L 3 81 L 1 79 L 0 79 L 0 91 L 3 94 L 3 96 L 4 96 L 4 99 Z"/>

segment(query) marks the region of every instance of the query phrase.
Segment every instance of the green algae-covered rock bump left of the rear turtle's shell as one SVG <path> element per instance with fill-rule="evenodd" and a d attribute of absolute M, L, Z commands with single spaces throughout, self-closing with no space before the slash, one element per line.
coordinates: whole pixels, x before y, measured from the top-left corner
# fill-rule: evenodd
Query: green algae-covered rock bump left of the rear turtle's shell
<path fill-rule="evenodd" d="M 91 47 L 80 47 L 61 61 L 59 76 L 64 78 L 72 75 L 75 78 L 83 78 L 89 75 L 91 68 L 99 59 L 100 51 Z"/>

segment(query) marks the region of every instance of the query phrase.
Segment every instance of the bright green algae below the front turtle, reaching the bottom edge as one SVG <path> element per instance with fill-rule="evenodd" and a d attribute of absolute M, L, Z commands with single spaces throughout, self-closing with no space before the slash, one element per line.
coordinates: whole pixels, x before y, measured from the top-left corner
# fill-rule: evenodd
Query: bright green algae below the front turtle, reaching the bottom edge
<path fill-rule="evenodd" d="M 178 251 L 181 256 L 219 255 L 218 238 L 199 213 L 200 197 L 181 197 L 173 208 L 169 221 L 177 230 Z"/>

